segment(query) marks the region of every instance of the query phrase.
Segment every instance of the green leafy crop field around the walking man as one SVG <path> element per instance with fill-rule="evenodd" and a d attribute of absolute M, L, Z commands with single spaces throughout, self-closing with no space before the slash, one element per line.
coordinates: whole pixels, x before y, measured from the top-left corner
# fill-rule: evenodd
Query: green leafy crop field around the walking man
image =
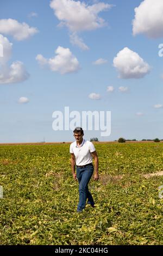
<path fill-rule="evenodd" d="M 1 245 L 163 245 L 163 143 L 95 144 L 96 208 L 77 214 L 69 144 L 1 145 Z"/>

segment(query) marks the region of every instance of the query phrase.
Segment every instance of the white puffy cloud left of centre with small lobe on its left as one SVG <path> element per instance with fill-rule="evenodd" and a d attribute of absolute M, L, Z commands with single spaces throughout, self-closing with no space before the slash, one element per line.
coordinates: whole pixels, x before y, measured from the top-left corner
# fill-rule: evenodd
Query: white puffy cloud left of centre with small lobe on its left
<path fill-rule="evenodd" d="M 50 59 L 46 59 L 41 54 L 38 54 L 36 60 L 40 65 L 46 65 L 49 69 L 57 71 L 61 75 L 77 72 L 80 69 L 77 58 L 73 56 L 69 48 L 58 46 L 55 53 L 56 56 Z"/>

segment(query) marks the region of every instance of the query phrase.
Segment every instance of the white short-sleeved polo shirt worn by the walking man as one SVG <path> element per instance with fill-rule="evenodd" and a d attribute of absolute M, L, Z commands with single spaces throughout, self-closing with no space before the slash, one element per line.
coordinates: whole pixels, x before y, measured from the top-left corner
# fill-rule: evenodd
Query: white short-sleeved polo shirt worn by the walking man
<path fill-rule="evenodd" d="M 77 146 L 77 142 L 73 142 L 70 145 L 70 153 L 73 153 L 76 157 L 77 166 L 85 166 L 85 164 L 92 163 L 91 153 L 96 151 L 94 145 L 90 141 L 83 139 L 82 144 Z"/>

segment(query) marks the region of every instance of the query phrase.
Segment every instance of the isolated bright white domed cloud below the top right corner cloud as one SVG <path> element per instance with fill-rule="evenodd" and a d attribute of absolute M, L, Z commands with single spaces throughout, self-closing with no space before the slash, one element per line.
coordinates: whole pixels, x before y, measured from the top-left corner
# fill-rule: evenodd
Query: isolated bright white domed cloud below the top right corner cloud
<path fill-rule="evenodd" d="M 142 78 L 151 70 L 148 63 L 144 62 L 139 54 L 131 51 L 128 47 L 124 47 L 117 53 L 113 65 L 119 72 L 118 78 L 124 79 Z"/>

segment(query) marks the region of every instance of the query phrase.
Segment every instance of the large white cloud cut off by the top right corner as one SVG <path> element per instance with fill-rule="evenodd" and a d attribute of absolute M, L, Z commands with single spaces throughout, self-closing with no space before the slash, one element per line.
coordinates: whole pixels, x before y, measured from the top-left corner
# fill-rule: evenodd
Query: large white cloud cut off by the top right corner
<path fill-rule="evenodd" d="M 135 8 L 133 35 L 145 34 L 149 38 L 163 36 L 163 1 L 145 0 Z"/>

